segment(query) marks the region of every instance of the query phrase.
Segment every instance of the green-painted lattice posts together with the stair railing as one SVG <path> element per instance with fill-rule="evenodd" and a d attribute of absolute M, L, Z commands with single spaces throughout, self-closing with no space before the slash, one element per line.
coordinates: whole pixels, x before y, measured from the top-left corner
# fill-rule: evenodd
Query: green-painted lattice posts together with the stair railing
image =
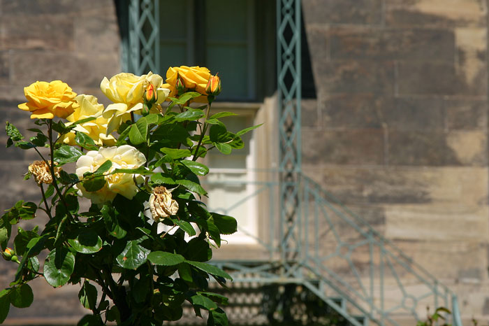
<path fill-rule="evenodd" d="M 161 71 L 159 1 L 124 1 L 129 23 L 122 38 L 124 70 Z M 214 264 L 230 271 L 235 282 L 302 284 L 355 326 L 419 320 L 426 306 L 441 305 L 453 310 L 453 324 L 461 326 L 451 290 L 302 174 L 300 17 L 300 0 L 277 0 L 280 161 L 278 171 L 267 172 L 275 181 L 256 182 L 256 191 L 223 211 L 254 198 L 268 202 L 258 207 L 259 216 L 269 219 L 268 235 L 255 236 L 262 259 Z"/>

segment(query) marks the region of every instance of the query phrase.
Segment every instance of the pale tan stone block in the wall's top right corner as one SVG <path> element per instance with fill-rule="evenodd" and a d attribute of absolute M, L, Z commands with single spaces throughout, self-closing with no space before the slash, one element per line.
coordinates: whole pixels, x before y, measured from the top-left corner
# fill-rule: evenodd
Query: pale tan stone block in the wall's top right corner
<path fill-rule="evenodd" d="M 479 0 L 386 0 L 386 24 L 399 27 L 486 26 L 487 3 Z"/>

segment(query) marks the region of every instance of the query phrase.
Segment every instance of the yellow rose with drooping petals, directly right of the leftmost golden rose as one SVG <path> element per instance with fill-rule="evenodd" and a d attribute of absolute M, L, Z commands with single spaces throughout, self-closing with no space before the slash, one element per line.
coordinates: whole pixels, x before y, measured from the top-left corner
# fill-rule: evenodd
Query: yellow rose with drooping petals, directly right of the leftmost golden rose
<path fill-rule="evenodd" d="M 108 119 L 103 118 L 103 104 L 98 104 L 97 98 L 92 95 L 81 94 L 75 97 L 75 99 L 79 106 L 75 108 L 75 111 L 71 115 L 68 115 L 66 119 L 69 122 L 66 125 L 69 126 L 73 122 L 91 117 L 94 117 L 95 120 L 80 123 L 71 132 L 65 134 L 62 137 L 62 141 L 68 145 L 75 146 L 75 131 L 77 131 L 90 136 L 98 146 L 114 146 L 116 141 L 114 136 L 105 136 Z"/>

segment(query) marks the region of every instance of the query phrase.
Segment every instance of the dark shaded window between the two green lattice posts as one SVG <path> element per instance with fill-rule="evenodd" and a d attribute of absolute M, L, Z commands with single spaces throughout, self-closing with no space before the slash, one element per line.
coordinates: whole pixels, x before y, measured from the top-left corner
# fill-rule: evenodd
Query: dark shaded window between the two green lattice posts
<path fill-rule="evenodd" d="M 275 91 L 275 1 L 161 0 L 160 66 L 219 72 L 219 100 L 260 101 Z"/>

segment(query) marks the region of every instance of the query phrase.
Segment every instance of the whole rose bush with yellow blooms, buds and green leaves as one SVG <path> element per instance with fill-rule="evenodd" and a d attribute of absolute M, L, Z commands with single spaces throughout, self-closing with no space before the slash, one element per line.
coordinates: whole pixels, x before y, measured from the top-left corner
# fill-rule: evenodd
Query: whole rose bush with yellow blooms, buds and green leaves
<path fill-rule="evenodd" d="M 220 307 L 227 299 L 209 292 L 208 282 L 231 277 L 207 261 L 221 234 L 237 226 L 207 211 L 199 176 L 209 169 L 198 159 L 213 148 L 225 154 L 242 148 L 240 136 L 254 127 L 228 132 L 220 118 L 231 113 L 210 115 L 221 81 L 207 69 L 169 71 L 181 73 L 189 92 L 180 87 L 168 106 L 162 104 L 170 89 L 153 73 L 104 78 L 101 89 L 114 102 L 105 108 L 90 95 L 75 97 L 58 80 L 24 89 L 28 102 L 19 108 L 38 118 L 37 127 L 26 140 L 7 122 L 7 147 L 39 155 L 25 179 L 34 176 L 42 200 L 17 201 L 0 218 L 2 257 L 17 264 L 13 282 L 0 292 L 0 323 L 10 305 L 30 306 L 29 282 L 44 278 L 54 288 L 80 286 L 80 303 L 91 313 L 78 325 L 162 325 L 180 319 L 184 301 L 198 316 L 208 312 L 207 325 L 227 324 Z M 207 105 L 192 107 L 200 97 Z M 75 173 L 64 169 L 70 164 Z M 12 242 L 12 227 L 43 221 L 39 213 L 47 215 L 45 225 L 18 227 Z M 161 233 L 161 224 L 171 232 Z"/>

